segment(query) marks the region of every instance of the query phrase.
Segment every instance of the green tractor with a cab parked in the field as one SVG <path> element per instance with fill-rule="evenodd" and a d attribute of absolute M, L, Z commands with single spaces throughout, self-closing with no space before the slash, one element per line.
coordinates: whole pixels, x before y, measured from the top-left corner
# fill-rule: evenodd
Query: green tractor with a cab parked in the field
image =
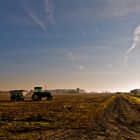
<path fill-rule="evenodd" d="M 33 101 L 41 101 L 42 98 L 47 98 L 47 100 L 52 100 L 51 92 L 43 91 L 42 87 L 34 87 L 34 92 L 32 95 Z"/>

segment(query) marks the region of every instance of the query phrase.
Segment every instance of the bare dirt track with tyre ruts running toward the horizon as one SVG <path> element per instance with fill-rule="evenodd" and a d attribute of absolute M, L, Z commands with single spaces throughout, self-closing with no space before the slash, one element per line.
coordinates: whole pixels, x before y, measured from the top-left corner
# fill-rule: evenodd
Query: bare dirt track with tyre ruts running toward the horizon
<path fill-rule="evenodd" d="M 140 139 L 140 107 L 116 95 L 112 104 L 93 123 L 96 139 Z"/>

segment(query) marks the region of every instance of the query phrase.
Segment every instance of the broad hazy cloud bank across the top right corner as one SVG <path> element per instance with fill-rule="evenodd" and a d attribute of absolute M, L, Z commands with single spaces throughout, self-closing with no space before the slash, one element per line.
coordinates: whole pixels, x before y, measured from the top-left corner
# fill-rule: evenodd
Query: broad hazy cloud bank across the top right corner
<path fill-rule="evenodd" d="M 96 18 L 121 18 L 130 14 L 140 14 L 140 0 L 104 0 L 102 2 L 87 0 L 78 4 L 68 13 L 63 13 L 65 19 L 93 22 Z"/>

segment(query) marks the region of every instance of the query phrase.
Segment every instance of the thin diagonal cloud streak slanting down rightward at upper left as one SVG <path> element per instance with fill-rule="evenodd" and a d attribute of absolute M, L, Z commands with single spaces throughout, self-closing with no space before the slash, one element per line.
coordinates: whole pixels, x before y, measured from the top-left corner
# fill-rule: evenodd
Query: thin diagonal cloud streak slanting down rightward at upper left
<path fill-rule="evenodd" d="M 46 32 L 45 24 L 36 15 L 35 11 L 25 3 L 22 3 L 22 7 L 27 12 L 28 16 Z"/>

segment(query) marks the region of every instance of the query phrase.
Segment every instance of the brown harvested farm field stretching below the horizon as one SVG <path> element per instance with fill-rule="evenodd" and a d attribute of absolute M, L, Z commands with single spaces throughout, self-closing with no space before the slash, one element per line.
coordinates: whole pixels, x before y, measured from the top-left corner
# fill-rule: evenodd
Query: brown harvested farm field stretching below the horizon
<path fill-rule="evenodd" d="M 4 97 L 3 97 L 4 99 Z M 0 140 L 140 140 L 140 98 L 54 95 L 52 101 L 0 101 Z"/>

